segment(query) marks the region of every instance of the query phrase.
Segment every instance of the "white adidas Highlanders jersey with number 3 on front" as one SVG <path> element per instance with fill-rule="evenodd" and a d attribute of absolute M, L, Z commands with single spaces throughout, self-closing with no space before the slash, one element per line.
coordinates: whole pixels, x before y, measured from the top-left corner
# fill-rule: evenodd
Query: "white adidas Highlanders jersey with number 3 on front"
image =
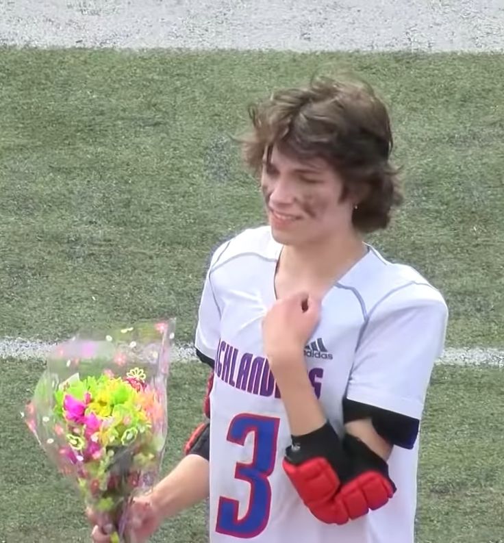
<path fill-rule="evenodd" d="M 290 431 L 262 344 L 275 302 L 281 245 L 269 227 L 221 245 L 203 288 L 196 347 L 215 360 L 210 394 L 210 542 L 412 543 L 418 440 L 392 450 L 397 492 L 387 505 L 344 526 L 316 519 L 283 472 Z M 327 293 L 305 349 L 312 385 L 342 435 L 342 400 L 420 420 L 447 308 L 416 270 L 368 252 Z"/>

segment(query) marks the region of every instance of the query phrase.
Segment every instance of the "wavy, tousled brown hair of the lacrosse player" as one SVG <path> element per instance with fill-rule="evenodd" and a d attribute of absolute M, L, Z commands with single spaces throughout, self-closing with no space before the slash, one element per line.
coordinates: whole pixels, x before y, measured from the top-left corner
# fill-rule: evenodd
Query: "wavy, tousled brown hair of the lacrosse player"
<path fill-rule="evenodd" d="M 305 87 L 277 90 L 249 106 L 252 129 L 237 138 L 255 175 L 273 145 L 297 160 L 322 158 L 342 177 L 343 198 L 358 198 L 353 225 L 383 229 L 392 207 L 403 202 L 399 168 L 392 165 L 393 140 L 386 105 L 360 79 L 313 78 Z"/>

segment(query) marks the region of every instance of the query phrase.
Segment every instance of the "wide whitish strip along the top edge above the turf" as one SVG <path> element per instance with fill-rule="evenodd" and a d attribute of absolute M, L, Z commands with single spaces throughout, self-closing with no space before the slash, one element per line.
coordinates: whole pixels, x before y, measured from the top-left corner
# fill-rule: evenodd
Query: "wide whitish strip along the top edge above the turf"
<path fill-rule="evenodd" d="M 504 51 L 504 0 L 0 0 L 0 44 Z"/>

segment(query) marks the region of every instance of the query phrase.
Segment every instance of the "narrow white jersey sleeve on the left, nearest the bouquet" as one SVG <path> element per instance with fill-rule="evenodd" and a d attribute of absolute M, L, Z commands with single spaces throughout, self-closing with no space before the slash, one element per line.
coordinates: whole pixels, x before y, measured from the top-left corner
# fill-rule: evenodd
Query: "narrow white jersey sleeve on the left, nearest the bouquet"
<path fill-rule="evenodd" d="M 216 292 L 212 283 L 212 271 L 226 248 L 227 244 L 218 247 L 210 260 L 210 266 L 207 270 L 205 282 L 203 283 L 196 336 L 194 338 L 194 348 L 199 359 L 212 367 L 214 366 L 216 350 L 220 339 L 220 307 L 218 292 Z"/>

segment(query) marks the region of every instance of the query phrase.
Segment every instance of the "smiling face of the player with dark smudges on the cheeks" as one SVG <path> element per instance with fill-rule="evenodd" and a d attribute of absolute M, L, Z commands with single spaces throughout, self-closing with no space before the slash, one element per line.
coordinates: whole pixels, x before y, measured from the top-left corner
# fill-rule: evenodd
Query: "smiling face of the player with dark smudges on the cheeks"
<path fill-rule="evenodd" d="M 310 244 L 353 232 L 355 202 L 323 159 L 299 162 L 273 147 L 264 155 L 261 188 L 273 237 L 285 245 Z"/>

